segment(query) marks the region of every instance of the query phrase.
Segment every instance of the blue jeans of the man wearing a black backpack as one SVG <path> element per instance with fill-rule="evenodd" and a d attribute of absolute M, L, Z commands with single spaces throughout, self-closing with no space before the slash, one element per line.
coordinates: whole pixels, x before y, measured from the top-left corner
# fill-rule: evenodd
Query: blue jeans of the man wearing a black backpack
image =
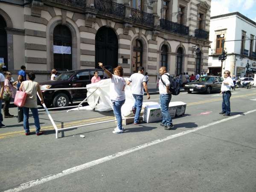
<path fill-rule="evenodd" d="M 162 123 L 166 124 L 167 126 L 172 124 L 172 117 L 170 116 L 170 113 L 168 111 L 169 103 L 172 99 L 171 94 L 161 94 L 160 95 L 160 106 L 161 106 L 161 112 L 163 116 Z"/>

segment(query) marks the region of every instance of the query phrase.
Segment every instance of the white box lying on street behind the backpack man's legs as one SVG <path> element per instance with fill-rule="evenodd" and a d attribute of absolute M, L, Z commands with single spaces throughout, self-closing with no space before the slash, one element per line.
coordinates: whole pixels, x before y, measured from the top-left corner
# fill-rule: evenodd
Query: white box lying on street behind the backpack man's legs
<path fill-rule="evenodd" d="M 175 116 L 184 115 L 186 110 L 186 103 L 184 102 L 170 102 L 169 103 L 169 113 L 172 118 Z M 157 105 L 147 105 L 144 108 L 143 121 L 156 122 L 162 120 L 161 107 Z"/>

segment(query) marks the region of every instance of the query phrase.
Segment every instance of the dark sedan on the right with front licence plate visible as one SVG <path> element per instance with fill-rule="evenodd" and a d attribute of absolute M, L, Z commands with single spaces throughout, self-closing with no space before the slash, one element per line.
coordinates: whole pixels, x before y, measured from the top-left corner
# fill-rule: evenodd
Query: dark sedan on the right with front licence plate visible
<path fill-rule="evenodd" d="M 188 93 L 195 92 L 206 92 L 208 94 L 212 91 L 221 91 L 222 77 L 218 76 L 205 76 L 200 77 L 196 81 L 185 84 L 184 90 Z"/>

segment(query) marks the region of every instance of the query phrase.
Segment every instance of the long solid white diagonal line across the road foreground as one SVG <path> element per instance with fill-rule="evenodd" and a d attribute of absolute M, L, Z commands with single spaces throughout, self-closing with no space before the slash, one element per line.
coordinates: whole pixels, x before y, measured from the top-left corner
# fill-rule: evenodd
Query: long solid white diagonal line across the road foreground
<path fill-rule="evenodd" d="M 212 125 L 216 125 L 218 123 L 226 122 L 226 121 L 229 121 L 231 119 L 235 119 L 235 118 L 238 118 L 240 116 L 244 116 L 244 115 L 247 115 L 247 114 L 253 113 L 253 112 L 256 112 L 256 109 L 254 109 L 252 111 L 247 111 L 245 113 L 238 114 L 238 115 L 235 115 L 235 116 L 230 116 L 230 117 L 221 119 L 219 121 L 211 122 L 211 123 L 208 123 L 208 124 L 203 125 L 203 126 L 198 127 L 198 128 L 194 128 L 194 129 L 191 129 L 191 130 L 183 131 L 183 132 L 178 133 L 178 134 L 170 135 L 170 136 L 165 137 L 163 139 L 154 140 L 154 141 L 151 141 L 149 143 L 145 143 L 143 145 L 139 145 L 139 146 L 134 147 L 134 148 L 129 148 L 129 149 L 125 150 L 125 151 L 120 151 L 120 152 L 118 152 L 116 154 L 112 154 L 112 155 L 109 155 L 107 157 L 102 157 L 100 159 L 93 160 L 93 161 L 90 161 L 88 163 L 84 163 L 82 165 L 72 167 L 70 169 L 66 169 L 66 170 L 64 170 L 64 171 L 62 171 L 60 173 L 57 173 L 57 174 L 47 175 L 45 177 L 41 177 L 39 179 L 35 179 L 35 180 L 29 181 L 27 183 L 23 183 L 23 184 L 15 187 L 15 188 L 8 189 L 5 192 L 17 192 L 17 191 L 22 191 L 24 189 L 29 189 L 29 188 L 31 188 L 33 186 L 37 186 L 37 185 L 40 185 L 42 183 L 46 183 L 46 182 L 48 182 L 50 180 L 54 180 L 54 179 L 57 179 L 59 177 L 63 177 L 65 175 L 70 175 L 70 174 L 75 173 L 75 172 L 79 172 L 79 171 L 87 169 L 89 167 L 96 166 L 96 165 L 98 165 L 100 163 L 104 163 L 106 161 L 116 159 L 117 157 L 122 157 L 122 156 L 124 156 L 126 154 L 130 154 L 130 153 L 132 153 L 134 151 L 138 151 L 140 149 L 143 149 L 143 148 L 146 148 L 146 147 L 149 147 L 149 146 L 152 146 L 152 145 L 156 145 L 158 143 L 162 143 L 162 142 L 174 139 L 176 137 L 180 137 L 180 136 L 183 136 L 183 135 L 186 135 L 186 134 L 189 134 L 189 133 L 192 133 L 192 132 L 195 132 L 195 131 L 198 131 L 198 130 L 201 130 L 201 129 L 204 129 L 204 128 L 207 128 L 207 127 L 210 127 Z"/>

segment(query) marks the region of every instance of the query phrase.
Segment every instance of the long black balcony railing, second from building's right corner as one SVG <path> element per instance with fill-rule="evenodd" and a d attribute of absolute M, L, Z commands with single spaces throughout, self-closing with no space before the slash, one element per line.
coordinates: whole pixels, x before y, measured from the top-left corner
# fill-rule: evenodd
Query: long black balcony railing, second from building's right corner
<path fill-rule="evenodd" d="M 160 27 L 170 32 L 181 35 L 189 35 L 189 27 L 169 20 L 160 19 Z"/>

